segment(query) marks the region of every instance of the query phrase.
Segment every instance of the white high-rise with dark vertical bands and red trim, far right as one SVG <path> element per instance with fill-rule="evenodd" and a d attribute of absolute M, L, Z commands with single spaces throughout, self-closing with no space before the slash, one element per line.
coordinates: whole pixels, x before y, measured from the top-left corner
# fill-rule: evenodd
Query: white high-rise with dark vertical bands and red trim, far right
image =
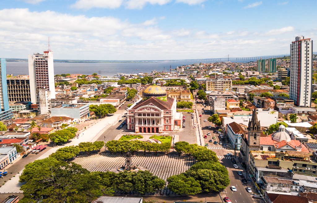
<path fill-rule="evenodd" d="M 313 41 L 296 37 L 290 45 L 289 99 L 296 106 L 311 105 Z"/>

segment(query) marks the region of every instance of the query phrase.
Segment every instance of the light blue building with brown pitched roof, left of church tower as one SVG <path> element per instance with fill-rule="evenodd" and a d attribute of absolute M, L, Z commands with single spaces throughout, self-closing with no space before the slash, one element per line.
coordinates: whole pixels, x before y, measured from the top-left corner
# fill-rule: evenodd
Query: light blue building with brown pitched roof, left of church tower
<path fill-rule="evenodd" d="M 242 144 L 242 134 L 245 133 L 244 128 L 236 122 L 227 124 L 226 128 L 226 134 L 232 147 L 234 148 L 236 145 L 237 150 L 240 150 Z"/>

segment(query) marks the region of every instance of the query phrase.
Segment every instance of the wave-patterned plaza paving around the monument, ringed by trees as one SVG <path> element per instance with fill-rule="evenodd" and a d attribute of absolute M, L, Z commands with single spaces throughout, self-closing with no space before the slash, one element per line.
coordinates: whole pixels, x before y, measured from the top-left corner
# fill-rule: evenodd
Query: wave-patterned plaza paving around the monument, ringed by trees
<path fill-rule="evenodd" d="M 120 167 L 125 163 L 126 156 L 120 153 L 109 154 L 93 154 L 93 155 L 83 155 L 76 157 L 72 162 L 80 164 L 83 168 L 89 171 L 103 171 L 111 170 L 116 167 Z M 155 155 L 154 153 L 146 152 L 146 155 L 143 152 L 139 152 L 139 155 L 135 154 L 132 158 L 133 164 L 138 164 L 145 167 L 154 176 L 165 180 L 170 176 L 178 175 L 180 173 L 188 170 L 193 164 L 194 159 L 188 158 L 187 156 L 177 155 Z M 161 191 L 163 195 L 167 196 L 176 196 L 175 193 L 166 190 L 165 188 Z M 115 193 L 117 195 L 123 195 L 124 193 Z M 135 193 L 130 193 L 135 194 Z M 137 194 L 135 194 L 137 195 Z M 153 195 L 153 194 L 146 194 Z M 159 195 L 157 192 L 155 195 Z"/>

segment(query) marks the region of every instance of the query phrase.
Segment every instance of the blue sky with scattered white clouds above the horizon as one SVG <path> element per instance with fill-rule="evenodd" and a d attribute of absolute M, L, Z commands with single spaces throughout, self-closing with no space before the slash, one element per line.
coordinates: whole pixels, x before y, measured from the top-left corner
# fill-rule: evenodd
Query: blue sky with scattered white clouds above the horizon
<path fill-rule="evenodd" d="M 0 58 L 182 60 L 289 54 L 317 1 L 2 0 Z"/>

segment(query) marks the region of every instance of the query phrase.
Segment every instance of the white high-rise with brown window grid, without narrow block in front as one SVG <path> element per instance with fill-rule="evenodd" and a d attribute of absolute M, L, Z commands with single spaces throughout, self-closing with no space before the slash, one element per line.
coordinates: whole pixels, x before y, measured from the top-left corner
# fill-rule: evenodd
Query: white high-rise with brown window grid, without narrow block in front
<path fill-rule="evenodd" d="M 50 98 L 55 99 L 53 52 L 29 55 L 29 80 L 32 104 L 37 104 L 36 90 L 42 88 L 50 91 Z"/>

